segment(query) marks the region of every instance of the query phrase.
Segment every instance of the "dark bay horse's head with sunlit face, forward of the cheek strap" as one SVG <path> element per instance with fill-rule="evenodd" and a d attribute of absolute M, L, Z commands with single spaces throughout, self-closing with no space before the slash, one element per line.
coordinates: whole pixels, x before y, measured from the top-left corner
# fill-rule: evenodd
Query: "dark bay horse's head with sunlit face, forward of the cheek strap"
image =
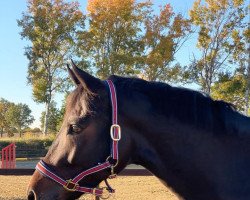
<path fill-rule="evenodd" d="M 85 192 L 100 192 L 101 196 L 102 190 L 95 187 L 121 171 L 129 160 L 126 136 L 120 141 L 124 144 L 119 148 L 119 163 L 118 155 L 114 158 L 111 153 L 112 147 L 118 148 L 114 141 L 120 139 L 118 135 L 115 137 L 119 138 L 112 140 L 112 133 L 120 130 L 116 130 L 118 125 L 111 128 L 114 122 L 107 83 L 72 64 L 73 68 L 68 67 L 68 71 L 76 89 L 67 97 L 66 112 L 56 139 L 31 178 L 29 200 L 76 199 Z"/>

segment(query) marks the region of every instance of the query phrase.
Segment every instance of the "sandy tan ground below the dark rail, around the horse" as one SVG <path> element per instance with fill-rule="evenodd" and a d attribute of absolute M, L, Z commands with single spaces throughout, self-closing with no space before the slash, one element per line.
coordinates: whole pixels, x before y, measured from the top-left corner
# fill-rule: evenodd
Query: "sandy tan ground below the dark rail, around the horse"
<path fill-rule="evenodd" d="M 0 200 L 23 200 L 30 176 L 0 176 Z M 111 200 L 178 200 L 162 183 L 153 176 L 118 177 L 110 184 L 116 189 Z M 81 200 L 92 200 L 92 195 Z"/>

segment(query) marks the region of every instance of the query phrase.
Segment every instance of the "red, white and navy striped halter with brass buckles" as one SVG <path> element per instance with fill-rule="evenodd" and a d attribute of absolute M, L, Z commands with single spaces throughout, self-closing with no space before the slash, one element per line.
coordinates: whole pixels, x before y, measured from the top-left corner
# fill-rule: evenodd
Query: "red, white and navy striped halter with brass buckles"
<path fill-rule="evenodd" d="M 97 166 L 94 166 L 90 169 L 87 169 L 81 172 L 76 177 L 74 177 L 73 179 L 69 179 L 69 180 L 65 180 L 64 178 L 58 176 L 52 169 L 50 169 L 49 165 L 46 164 L 43 160 L 40 160 L 38 164 L 36 165 L 36 169 L 42 175 L 62 185 L 67 191 L 89 193 L 95 196 L 99 196 L 102 199 L 107 199 L 111 193 L 115 192 L 115 190 L 113 190 L 110 187 L 107 180 L 105 180 L 107 187 L 104 187 L 104 188 L 82 187 L 82 186 L 79 186 L 78 182 L 90 174 L 97 173 L 107 168 L 111 169 L 111 175 L 109 176 L 109 178 L 116 177 L 116 174 L 114 173 L 114 168 L 118 164 L 118 142 L 121 139 L 121 128 L 118 125 L 118 120 L 117 120 L 117 98 L 116 98 L 115 85 L 111 80 L 106 80 L 105 82 L 107 83 L 108 88 L 109 88 L 111 106 L 112 106 L 112 125 L 110 127 L 110 137 L 112 139 L 112 145 L 111 145 L 111 154 L 110 156 L 108 156 L 106 161 L 101 164 L 98 164 Z M 108 191 L 108 195 L 104 193 L 105 190 Z"/>

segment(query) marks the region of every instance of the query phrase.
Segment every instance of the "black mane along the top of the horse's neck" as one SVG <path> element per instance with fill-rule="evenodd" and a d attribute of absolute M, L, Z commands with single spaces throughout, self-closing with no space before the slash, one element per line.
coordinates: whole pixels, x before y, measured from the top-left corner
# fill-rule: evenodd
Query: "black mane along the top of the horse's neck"
<path fill-rule="evenodd" d="M 146 81 L 139 78 L 111 76 L 121 90 L 137 91 L 154 104 L 158 112 L 182 123 L 206 130 L 213 134 L 250 134 L 250 118 L 236 111 L 235 107 L 222 100 L 214 100 L 204 93 L 174 87 L 166 83 Z M 240 127 L 238 125 L 241 123 Z"/>

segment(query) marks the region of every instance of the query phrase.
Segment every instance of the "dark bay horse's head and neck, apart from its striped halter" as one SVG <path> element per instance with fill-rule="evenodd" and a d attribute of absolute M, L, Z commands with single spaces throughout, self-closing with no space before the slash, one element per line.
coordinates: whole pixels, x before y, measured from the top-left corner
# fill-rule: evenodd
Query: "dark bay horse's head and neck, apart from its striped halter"
<path fill-rule="evenodd" d="M 77 87 L 67 98 L 63 125 L 43 159 L 65 180 L 105 162 L 112 124 L 105 82 L 74 65 L 69 72 Z M 185 200 L 250 199 L 250 118 L 196 91 L 135 78 L 110 80 L 122 129 L 116 173 L 130 163 L 142 165 Z M 93 188 L 109 175 L 107 168 L 79 185 Z M 38 170 L 28 189 L 29 200 L 76 199 L 81 194 Z"/>

